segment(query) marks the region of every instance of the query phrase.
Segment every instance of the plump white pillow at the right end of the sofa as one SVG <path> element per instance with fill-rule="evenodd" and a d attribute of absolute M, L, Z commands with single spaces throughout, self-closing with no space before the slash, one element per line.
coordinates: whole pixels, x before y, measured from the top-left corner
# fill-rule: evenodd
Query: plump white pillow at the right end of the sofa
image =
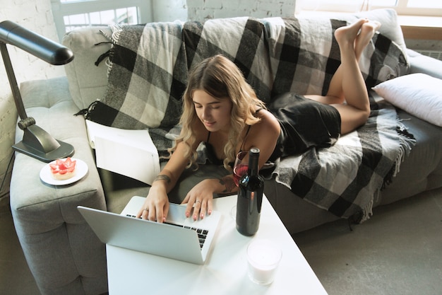
<path fill-rule="evenodd" d="M 417 73 L 379 83 L 379 96 L 410 114 L 442 127 L 442 80 Z"/>

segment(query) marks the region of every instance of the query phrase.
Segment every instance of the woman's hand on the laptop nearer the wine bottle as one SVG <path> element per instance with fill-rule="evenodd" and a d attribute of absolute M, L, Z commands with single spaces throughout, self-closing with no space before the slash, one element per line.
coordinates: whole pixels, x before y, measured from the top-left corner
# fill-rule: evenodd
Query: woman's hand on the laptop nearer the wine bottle
<path fill-rule="evenodd" d="M 186 217 L 192 214 L 193 220 L 203 219 L 205 213 L 212 214 L 213 211 L 213 192 L 219 185 L 220 180 L 205 179 L 195 185 L 186 195 L 181 204 L 187 204 Z M 193 210 L 192 210 L 193 209 Z"/>

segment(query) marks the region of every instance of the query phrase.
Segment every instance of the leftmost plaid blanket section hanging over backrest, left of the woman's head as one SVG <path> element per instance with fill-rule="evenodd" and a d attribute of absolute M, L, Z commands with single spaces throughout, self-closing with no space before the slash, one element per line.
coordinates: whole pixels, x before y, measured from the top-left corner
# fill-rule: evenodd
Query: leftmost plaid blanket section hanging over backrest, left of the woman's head
<path fill-rule="evenodd" d="M 86 117 L 122 129 L 176 125 L 187 81 L 182 25 L 113 27 L 107 92 Z"/>

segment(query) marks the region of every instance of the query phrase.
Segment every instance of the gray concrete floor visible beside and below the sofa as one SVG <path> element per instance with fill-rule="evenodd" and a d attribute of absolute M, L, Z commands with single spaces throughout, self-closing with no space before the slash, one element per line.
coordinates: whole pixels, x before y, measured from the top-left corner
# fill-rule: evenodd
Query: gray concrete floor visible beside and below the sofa
<path fill-rule="evenodd" d="M 441 295 L 442 189 L 297 233 L 294 241 L 329 295 Z M 0 294 L 38 295 L 11 211 L 0 206 Z"/>

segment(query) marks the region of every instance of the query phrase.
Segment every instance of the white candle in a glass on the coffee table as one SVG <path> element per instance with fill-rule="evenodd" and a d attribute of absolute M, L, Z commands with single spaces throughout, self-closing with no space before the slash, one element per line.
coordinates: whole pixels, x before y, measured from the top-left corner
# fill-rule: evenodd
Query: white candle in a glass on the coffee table
<path fill-rule="evenodd" d="M 251 241 L 247 247 L 251 281 L 260 285 L 272 283 L 281 257 L 282 251 L 276 243 L 265 239 Z"/>

